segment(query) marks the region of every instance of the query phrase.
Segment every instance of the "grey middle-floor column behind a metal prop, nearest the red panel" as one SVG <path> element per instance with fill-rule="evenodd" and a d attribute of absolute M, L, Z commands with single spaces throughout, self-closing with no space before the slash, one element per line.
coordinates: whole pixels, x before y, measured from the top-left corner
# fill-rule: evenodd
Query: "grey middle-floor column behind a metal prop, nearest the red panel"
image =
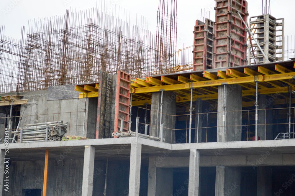
<path fill-rule="evenodd" d="M 176 95 L 172 91 L 163 92 L 162 124 L 164 123 L 163 138 L 166 143 L 174 144 L 175 141 L 175 115 L 176 114 Z M 150 135 L 160 137 L 160 103 L 161 92 L 152 93 L 152 111 Z"/>

